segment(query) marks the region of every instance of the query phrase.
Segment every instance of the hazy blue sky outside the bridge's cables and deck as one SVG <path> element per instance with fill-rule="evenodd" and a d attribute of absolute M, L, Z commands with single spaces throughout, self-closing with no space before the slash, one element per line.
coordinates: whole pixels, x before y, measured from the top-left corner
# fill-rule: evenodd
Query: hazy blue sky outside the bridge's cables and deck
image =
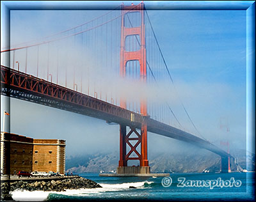
<path fill-rule="evenodd" d="M 13 10 L 11 40 L 13 44 L 34 40 L 104 12 Z M 217 145 L 228 139 L 233 148 L 245 149 L 246 11 L 148 10 L 148 15 L 175 86 L 200 133 Z M 1 114 L 4 100 L 1 96 Z M 119 148 L 118 125 L 15 99 L 11 99 L 11 114 L 11 132 L 66 139 L 67 155 Z M 228 120 L 230 133 L 220 130 L 221 117 Z M 1 127 L 2 121 L 1 116 Z M 148 135 L 151 151 L 172 152 L 180 145 L 173 139 Z"/>

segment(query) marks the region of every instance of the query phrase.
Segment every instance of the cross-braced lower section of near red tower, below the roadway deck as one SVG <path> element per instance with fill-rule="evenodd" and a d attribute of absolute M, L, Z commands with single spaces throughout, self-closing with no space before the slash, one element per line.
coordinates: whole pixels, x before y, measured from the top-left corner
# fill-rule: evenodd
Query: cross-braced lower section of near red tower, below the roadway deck
<path fill-rule="evenodd" d="M 126 125 L 120 125 L 120 160 L 118 162 L 117 174 L 149 174 L 150 167 L 147 159 L 147 123 L 141 124 L 141 134 L 135 127 L 130 127 L 127 133 Z M 131 137 L 133 135 L 133 137 Z M 137 136 L 137 137 L 134 137 Z M 130 141 L 136 141 L 132 144 Z M 131 148 L 127 152 L 127 145 Z M 138 152 L 137 147 L 141 146 Z M 135 155 L 135 156 L 134 156 Z M 140 166 L 127 166 L 128 160 L 140 160 Z"/>

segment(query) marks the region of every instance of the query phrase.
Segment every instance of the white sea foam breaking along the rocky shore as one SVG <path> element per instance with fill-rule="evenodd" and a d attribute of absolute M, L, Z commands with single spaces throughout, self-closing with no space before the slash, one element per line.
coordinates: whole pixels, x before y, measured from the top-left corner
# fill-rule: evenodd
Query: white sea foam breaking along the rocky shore
<path fill-rule="evenodd" d="M 115 192 L 118 190 L 125 190 L 129 189 L 130 186 L 136 187 L 139 189 L 144 189 L 143 186 L 145 183 L 151 184 L 153 182 L 130 182 L 130 183 L 115 183 L 115 184 L 108 184 L 108 183 L 100 183 L 102 188 L 95 188 L 95 189 L 67 189 L 65 192 L 56 192 L 56 191 L 42 191 L 42 190 L 35 190 L 35 191 L 28 191 L 28 190 L 14 190 L 12 193 L 12 198 L 15 201 L 44 201 L 47 199 L 47 196 L 50 193 L 54 194 L 62 194 L 66 196 L 95 196 L 100 195 L 103 192 Z"/>

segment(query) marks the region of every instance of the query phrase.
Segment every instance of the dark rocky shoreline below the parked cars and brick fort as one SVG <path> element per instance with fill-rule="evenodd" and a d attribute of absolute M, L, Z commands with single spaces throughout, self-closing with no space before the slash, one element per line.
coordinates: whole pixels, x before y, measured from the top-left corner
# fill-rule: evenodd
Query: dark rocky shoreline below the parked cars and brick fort
<path fill-rule="evenodd" d="M 101 187 L 98 183 L 86 178 L 69 178 L 65 180 L 51 180 L 49 182 L 36 181 L 26 182 L 18 180 L 10 183 L 10 190 L 44 190 L 44 191 L 65 191 L 66 189 L 93 189 Z M 8 183 L 1 183 L 1 201 L 4 199 L 4 195 L 8 194 Z"/>

